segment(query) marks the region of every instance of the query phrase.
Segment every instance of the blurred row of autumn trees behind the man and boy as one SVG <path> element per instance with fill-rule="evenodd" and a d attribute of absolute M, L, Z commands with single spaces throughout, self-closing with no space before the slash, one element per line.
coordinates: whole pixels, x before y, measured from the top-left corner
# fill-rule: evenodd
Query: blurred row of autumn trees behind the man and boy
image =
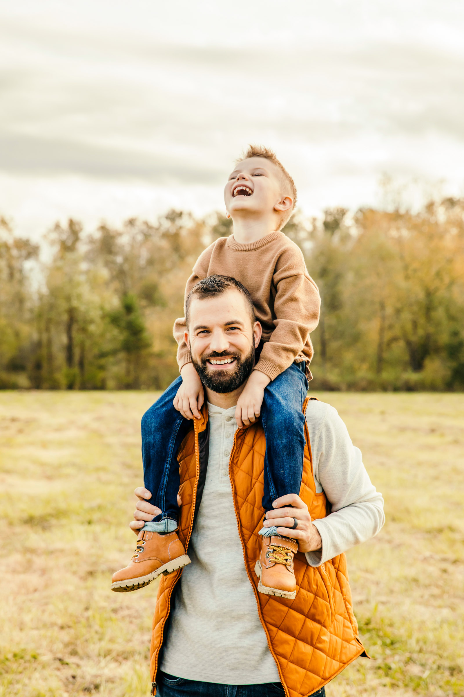
<path fill-rule="evenodd" d="M 186 278 L 231 231 L 177 210 L 90 234 L 69 220 L 41 250 L 0 218 L 0 388 L 166 388 Z M 314 390 L 463 390 L 464 199 L 296 213 L 284 231 L 321 292 Z"/>

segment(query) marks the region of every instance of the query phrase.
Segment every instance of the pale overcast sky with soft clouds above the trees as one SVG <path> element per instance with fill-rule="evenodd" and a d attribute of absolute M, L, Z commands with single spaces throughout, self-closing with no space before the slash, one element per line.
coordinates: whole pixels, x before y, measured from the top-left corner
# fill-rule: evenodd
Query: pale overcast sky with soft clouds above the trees
<path fill-rule="evenodd" d="M 462 0 L 0 0 L 0 215 L 223 209 L 249 142 L 307 213 L 464 193 Z"/>

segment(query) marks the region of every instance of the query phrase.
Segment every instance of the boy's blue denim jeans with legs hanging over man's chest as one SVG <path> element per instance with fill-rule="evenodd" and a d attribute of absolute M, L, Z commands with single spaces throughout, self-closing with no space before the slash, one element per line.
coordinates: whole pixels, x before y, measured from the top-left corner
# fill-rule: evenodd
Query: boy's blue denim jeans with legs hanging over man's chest
<path fill-rule="evenodd" d="M 292 364 L 264 390 L 261 420 L 266 436 L 262 507 L 285 493 L 299 493 L 305 447 L 303 401 L 307 393 L 305 362 Z M 177 520 L 179 464 L 177 450 L 191 427 L 173 406 L 182 383 L 178 377 L 142 418 L 143 482 L 152 492 L 149 503 L 162 514 L 155 521 Z"/>

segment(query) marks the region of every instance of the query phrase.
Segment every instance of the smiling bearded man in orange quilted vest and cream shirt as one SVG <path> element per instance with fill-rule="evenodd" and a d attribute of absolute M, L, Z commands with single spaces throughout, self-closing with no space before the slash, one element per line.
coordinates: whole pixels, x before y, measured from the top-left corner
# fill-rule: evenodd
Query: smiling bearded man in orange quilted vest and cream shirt
<path fill-rule="evenodd" d="M 161 697 L 323 696 L 323 685 L 363 653 L 343 552 L 378 533 L 383 499 L 328 404 L 307 404 L 301 498 L 274 501 L 264 520 L 269 551 L 259 556 L 264 434 L 259 422 L 237 429 L 234 413 L 260 337 L 239 282 L 216 277 L 193 288 L 185 341 L 207 408 L 177 451 L 179 539 L 191 564 L 161 577 L 151 650 Z M 138 532 L 159 510 L 144 500 L 149 491 L 136 494 Z M 153 534 L 139 534 L 136 563 Z M 295 599 L 257 592 L 257 556 L 263 573 L 294 564 Z"/>

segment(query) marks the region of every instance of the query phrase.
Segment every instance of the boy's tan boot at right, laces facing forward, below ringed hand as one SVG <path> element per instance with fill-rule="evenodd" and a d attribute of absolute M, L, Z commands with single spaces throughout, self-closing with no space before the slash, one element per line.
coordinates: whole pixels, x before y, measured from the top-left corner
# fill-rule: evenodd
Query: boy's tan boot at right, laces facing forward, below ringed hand
<path fill-rule="evenodd" d="M 296 597 L 294 554 L 297 551 L 298 542 L 294 539 L 278 535 L 263 537 L 261 554 L 255 565 L 260 593 L 291 600 Z"/>

